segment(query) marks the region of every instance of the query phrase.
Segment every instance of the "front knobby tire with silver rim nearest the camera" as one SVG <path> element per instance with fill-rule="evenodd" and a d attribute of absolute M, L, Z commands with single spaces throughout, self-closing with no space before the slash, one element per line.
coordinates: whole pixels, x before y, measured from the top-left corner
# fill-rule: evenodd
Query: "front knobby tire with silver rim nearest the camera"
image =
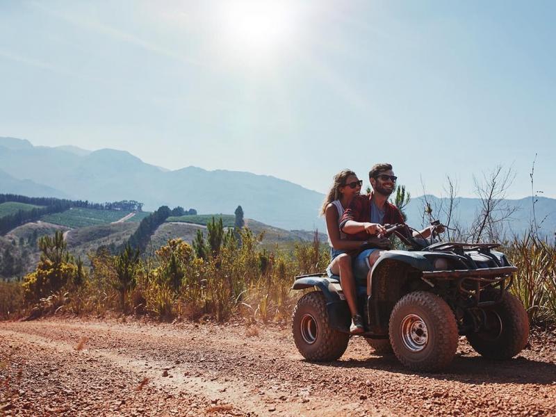
<path fill-rule="evenodd" d="M 395 356 L 412 370 L 441 370 L 452 361 L 459 334 L 454 313 L 438 295 L 416 291 L 402 297 L 390 316 Z"/>

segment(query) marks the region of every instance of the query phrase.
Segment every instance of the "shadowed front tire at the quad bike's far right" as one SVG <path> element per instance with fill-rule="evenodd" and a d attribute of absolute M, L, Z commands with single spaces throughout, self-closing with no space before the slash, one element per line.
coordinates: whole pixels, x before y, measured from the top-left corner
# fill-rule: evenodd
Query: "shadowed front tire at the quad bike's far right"
<path fill-rule="evenodd" d="M 486 293 L 484 300 L 494 297 Z M 473 349 L 488 359 L 510 359 L 521 352 L 529 340 L 529 318 L 518 297 L 505 291 L 499 304 L 484 311 L 488 328 L 467 336 Z"/>

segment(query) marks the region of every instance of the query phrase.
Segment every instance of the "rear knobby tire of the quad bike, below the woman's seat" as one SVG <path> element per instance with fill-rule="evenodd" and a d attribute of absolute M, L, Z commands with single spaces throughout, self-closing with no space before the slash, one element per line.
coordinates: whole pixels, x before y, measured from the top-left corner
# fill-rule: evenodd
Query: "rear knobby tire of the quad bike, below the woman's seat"
<path fill-rule="evenodd" d="M 343 355 L 350 335 L 329 326 L 325 296 L 307 293 L 297 302 L 292 315 L 293 340 L 309 361 L 335 361 Z"/>

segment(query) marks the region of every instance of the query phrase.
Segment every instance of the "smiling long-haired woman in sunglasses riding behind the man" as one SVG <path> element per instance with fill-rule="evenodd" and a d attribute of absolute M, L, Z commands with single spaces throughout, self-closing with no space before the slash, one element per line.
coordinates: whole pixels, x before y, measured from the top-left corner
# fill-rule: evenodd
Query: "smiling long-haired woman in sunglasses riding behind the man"
<path fill-rule="evenodd" d="M 357 297 L 355 295 L 355 281 L 352 272 L 352 257 L 347 252 L 357 254 L 357 251 L 366 245 L 360 240 L 347 240 L 347 236 L 340 231 L 339 219 L 343 211 L 350 205 L 354 195 L 361 192 L 363 181 L 357 178 L 352 170 L 343 170 L 334 175 L 332 188 L 322 203 L 320 215 L 326 219 L 328 231 L 328 243 L 330 245 L 330 257 L 332 261 L 328 265 L 327 273 L 339 275 L 340 283 L 347 305 L 350 307 L 352 324 L 350 332 L 357 334 L 364 332 L 363 320 L 357 311 Z"/>

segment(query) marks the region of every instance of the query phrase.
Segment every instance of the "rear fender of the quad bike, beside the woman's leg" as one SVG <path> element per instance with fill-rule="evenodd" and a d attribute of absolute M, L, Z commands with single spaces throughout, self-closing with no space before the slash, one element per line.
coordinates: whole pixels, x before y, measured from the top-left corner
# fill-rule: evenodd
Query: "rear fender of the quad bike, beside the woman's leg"
<path fill-rule="evenodd" d="M 341 291 L 340 281 L 326 277 L 303 277 L 296 279 L 291 289 L 303 290 L 311 287 L 318 288 L 325 295 L 329 326 L 339 332 L 349 333 L 350 308 L 343 297 L 338 294 L 338 291 Z"/>

